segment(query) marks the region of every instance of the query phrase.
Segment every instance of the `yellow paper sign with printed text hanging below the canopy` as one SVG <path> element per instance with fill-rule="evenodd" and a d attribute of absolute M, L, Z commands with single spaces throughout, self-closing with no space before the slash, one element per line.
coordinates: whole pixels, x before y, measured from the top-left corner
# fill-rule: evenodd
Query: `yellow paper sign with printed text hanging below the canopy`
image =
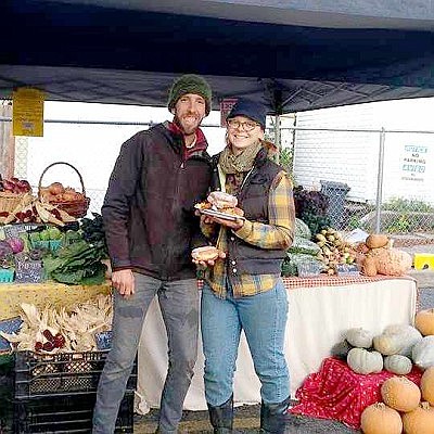
<path fill-rule="evenodd" d="M 43 92 L 38 89 L 20 88 L 13 92 L 14 136 L 43 136 Z"/>

